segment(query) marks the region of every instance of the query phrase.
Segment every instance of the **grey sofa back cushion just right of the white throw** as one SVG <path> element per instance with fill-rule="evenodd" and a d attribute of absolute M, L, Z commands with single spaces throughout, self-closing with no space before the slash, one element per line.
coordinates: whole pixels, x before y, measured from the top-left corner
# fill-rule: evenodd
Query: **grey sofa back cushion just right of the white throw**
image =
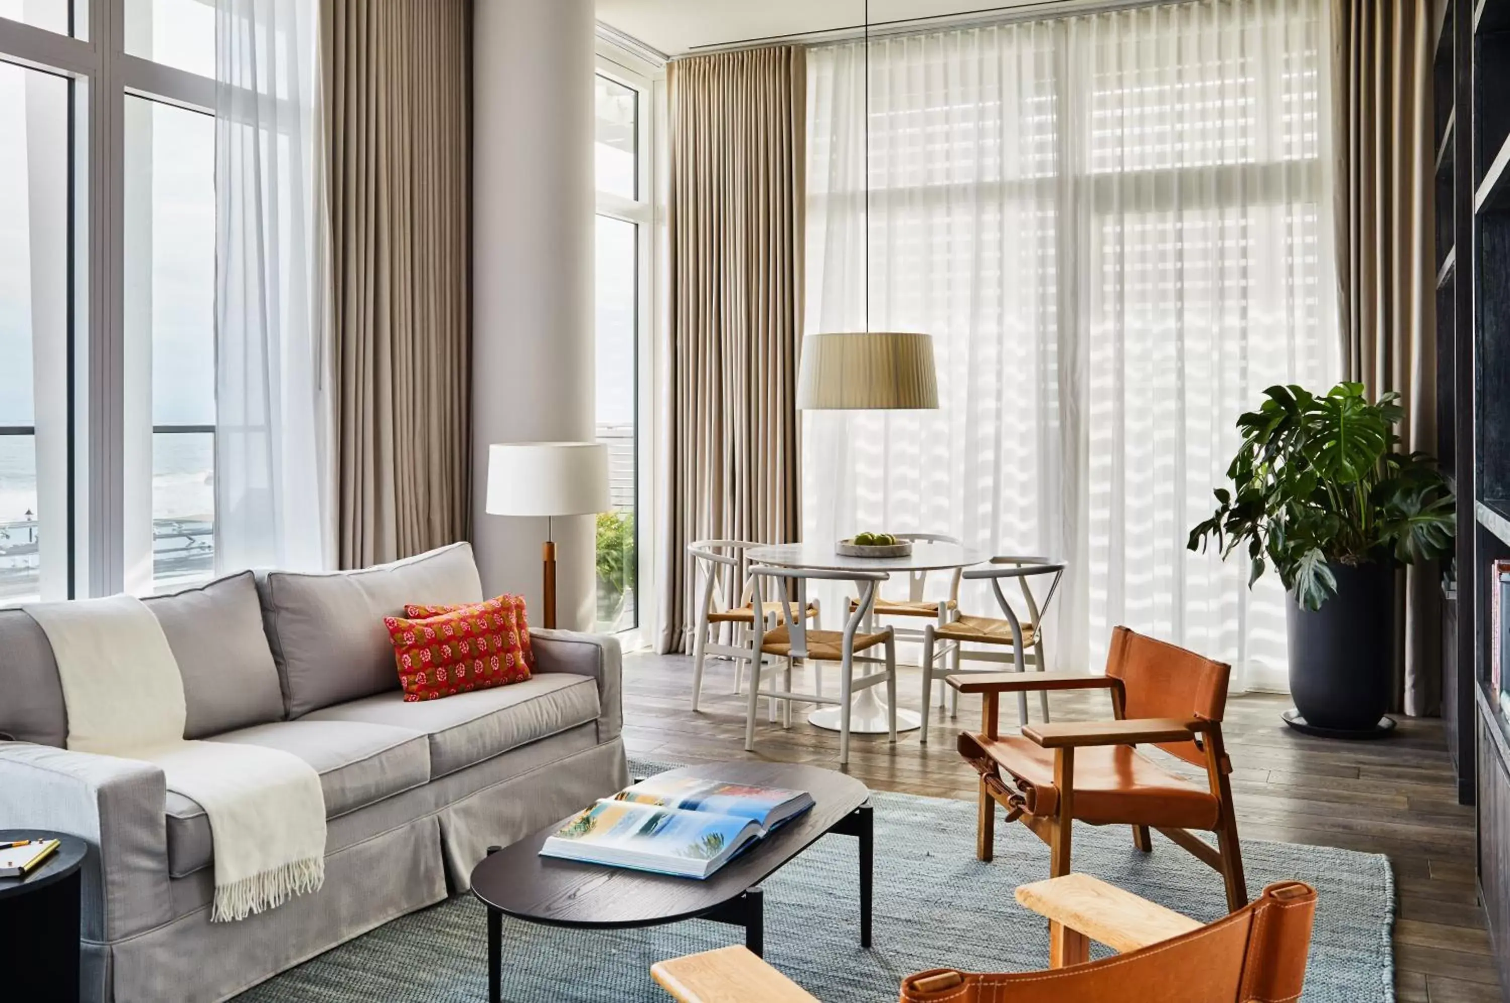
<path fill-rule="evenodd" d="M 186 739 L 282 719 L 282 687 L 251 571 L 142 601 L 184 680 Z"/>

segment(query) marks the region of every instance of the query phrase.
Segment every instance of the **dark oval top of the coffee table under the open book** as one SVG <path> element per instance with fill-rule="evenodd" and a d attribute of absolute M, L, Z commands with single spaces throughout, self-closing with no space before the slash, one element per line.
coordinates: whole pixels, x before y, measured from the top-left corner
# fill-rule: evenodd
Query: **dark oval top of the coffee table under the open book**
<path fill-rule="evenodd" d="M 485 856 L 473 870 L 473 894 L 509 915 L 553 926 L 673 923 L 766 881 L 870 798 L 865 784 L 853 776 L 794 763 L 701 763 L 666 775 L 805 790 L 814 805 L 704 881 L 541 856 L 541 844 L 560 829 L 566 822 L 562 819 Z"/>

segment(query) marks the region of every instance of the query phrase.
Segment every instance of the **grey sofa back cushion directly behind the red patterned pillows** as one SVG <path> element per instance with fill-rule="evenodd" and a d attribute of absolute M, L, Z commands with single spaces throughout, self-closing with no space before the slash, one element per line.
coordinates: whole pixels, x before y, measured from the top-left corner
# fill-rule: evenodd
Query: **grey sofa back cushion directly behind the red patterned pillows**
<path fill-rule="evenodd" d="M 399 687 L 384 616 L 405 603 L 480 603 L 471 545 L 362 571 L 258 577 L 263 621 L 290 718 Z"/>

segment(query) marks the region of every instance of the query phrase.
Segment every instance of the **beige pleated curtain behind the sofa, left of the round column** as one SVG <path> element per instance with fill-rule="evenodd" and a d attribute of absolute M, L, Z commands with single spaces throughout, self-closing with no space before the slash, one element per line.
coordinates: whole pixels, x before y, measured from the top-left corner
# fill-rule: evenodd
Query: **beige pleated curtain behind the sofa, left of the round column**
<path fill-rule="evenodd" d="M 468 0 L 325 0 L 337 559 L 465 539 Z"/>

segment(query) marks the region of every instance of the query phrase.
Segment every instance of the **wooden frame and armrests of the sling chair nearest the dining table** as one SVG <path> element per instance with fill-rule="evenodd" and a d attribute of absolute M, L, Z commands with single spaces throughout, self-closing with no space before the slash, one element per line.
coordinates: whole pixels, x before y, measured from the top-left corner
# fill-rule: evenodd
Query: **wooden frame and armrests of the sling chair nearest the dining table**
<path fill-rule="evenodd" d="M 1122 627 L 1119 631 L 1125 630 Z M 1111 693 L 1113 721 L 1030 725 L 1022 737 L 1054 751 L 1054 787 L 1059 793 L 1052 814 L 1037 816 L 1025 808 L 1022 793 L 1001 776 L 1001 766 L 982 755 L 975 736 L 960 734 L 960 755 L 980 773 L 975 819 L 975 856 L 989 861 L 995 847 L 995 808 L 1000 804 L 1007 813 L 1007 822 L 1022 822 L 1049 847 L 1049 876 L 1060 878 L 1071 869 L 1071 834 L 1075 819 L 1075 749 L 1089 746 L 1139 743 L 1194 742 L 1205 754 L 1206 782 L 1217 802 L 1217 819 L 1211 831 L 1217 835 L 1216 849 L 1185 828 L 1152 826 L 1176 846 L 1188 850 L 1196 859 L 1222 875 L 1226 888 L 1228 908 L 1232 911 L 1247 905 L 1247 881 L 1243 875 L 1243 850 L 1237 835 L 1237 811 L 1232 805 L 1229 775 L 1232 761 L 1222 740 L 1222 724 L 1191 716 L 1184 721 L 1169 718 L 1128 719 L 1125 714 L 1126 689 L 1123 681 L 1111 675 L 1081 675 L 1078 672 L 1043 672 L 1022 675 L 1001 672 L 994 675 L 950 675 L 947 683 L 960 693 L 980 693 L 982 736 L 988 742 L 1000 737 L 998 710 L 1003 693 L 1028 690 L 1105 689 Z M 1105 825 L 1105 823 L 1101 823 Z M 1132 844 L 1145 853 L 1154 849 L 1149 825 L 1132 825 Z"/>

